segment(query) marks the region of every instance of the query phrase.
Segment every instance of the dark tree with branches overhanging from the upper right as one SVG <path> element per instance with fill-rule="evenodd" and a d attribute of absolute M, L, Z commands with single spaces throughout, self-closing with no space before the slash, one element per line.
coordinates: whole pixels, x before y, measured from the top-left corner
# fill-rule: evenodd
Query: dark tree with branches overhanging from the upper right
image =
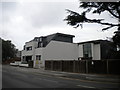
<path fill-rule="evenodd" d="M 77 28 L 82 27 L 83 23 L 97 23 L 106 26 L 102 30 L 108 30 L 113 27 L 117 27 L 117 32 L 113 36 L 113 41 L 120 47 L 120 1 L 119 2 L 80 2 L 80 8 L 84 11 L 80 14 L 78 12 L 67 9 L 69 15 L 64 19 L 67 24 Z M 105 22 L 105 19 L 90 19 L 87 18 L 87 13 L 101 15 L 107 11 L 113 18 L 118 20 L 118 23 Z"/>

